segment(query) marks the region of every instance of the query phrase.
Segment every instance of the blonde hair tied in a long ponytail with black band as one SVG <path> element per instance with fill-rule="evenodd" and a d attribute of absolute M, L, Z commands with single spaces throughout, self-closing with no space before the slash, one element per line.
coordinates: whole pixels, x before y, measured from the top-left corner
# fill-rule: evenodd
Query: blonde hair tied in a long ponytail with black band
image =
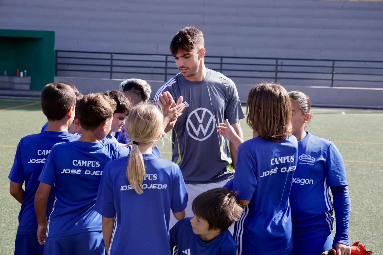
<path fill-rule="evenodd" d="M 163 116 L 158 106 L 143 101 L 134 106 L 128 115 L 125 131 L 133 141 L 126 177 L 137 194 L 142 194 L 145 166 L 139 144 L 154 144 L 164 133 Z"/>

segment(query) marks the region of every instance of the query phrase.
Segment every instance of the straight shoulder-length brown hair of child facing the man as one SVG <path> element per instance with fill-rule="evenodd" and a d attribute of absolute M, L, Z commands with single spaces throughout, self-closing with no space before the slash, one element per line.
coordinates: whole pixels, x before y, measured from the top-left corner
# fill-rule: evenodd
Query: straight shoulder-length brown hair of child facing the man
<path fill-rule="evenodd" d="M 290 97 L 278 83 L 260 83 L 247 95 L 247 124 L 259 137 L 274 142 L 285 141 L 291 126 Z"/>

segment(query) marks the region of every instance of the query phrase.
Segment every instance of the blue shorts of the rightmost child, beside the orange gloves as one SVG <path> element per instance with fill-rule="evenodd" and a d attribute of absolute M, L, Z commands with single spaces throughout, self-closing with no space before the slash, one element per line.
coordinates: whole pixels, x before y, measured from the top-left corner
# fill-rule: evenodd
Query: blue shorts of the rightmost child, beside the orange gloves
<path fill-rule="evenodd" d="M 333 240 L 331 233 L 329 236 L 294 242 L 291 255 L 322 254 L 322 252 L 332 249 Z"/>

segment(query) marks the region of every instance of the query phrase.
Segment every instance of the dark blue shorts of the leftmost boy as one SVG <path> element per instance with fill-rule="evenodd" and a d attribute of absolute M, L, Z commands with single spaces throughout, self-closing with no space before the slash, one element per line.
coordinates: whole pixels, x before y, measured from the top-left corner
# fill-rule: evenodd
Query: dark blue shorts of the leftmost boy
<path fill-rule="evenodd" d="M 44 245 L 37 240 L 37 233 L 16 234 L 15 255 L 43 255 Z"/>

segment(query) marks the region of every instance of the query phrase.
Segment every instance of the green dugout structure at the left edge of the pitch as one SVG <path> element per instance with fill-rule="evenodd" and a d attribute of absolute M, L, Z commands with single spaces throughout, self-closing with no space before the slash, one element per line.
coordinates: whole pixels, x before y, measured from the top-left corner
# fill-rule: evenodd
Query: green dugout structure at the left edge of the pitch
<path fill-rule="evenodd" d="M 0 74 L 26 70 L 29 88 L 42 90 L 55 75 L 54 31 L 0 29 Z"/>

